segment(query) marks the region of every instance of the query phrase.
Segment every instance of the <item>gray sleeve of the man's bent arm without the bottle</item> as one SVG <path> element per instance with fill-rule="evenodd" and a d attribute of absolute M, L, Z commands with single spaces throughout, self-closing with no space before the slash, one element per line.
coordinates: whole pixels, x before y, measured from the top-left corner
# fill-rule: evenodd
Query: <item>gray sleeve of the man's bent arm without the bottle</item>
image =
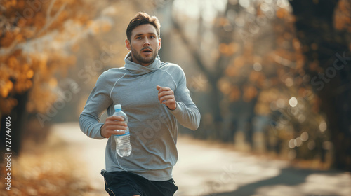
<path fill-rule="evenodd" d="M 192 102 L 190 91 L 187 89 L 187 80 L 183 69 L 181 69 L 180 66 L 178 66 L 178 68 L 178 73 L 172 74 L 173 76 L 178 77 L 178 85 L 174 92 L 177 108 L 170 110 L 170 112 L 177 118 L 180 125 L 183 125 L 190 130 L 197 130 L 200 125 L 200 111 L 197 109 L 194 102 Z"/>

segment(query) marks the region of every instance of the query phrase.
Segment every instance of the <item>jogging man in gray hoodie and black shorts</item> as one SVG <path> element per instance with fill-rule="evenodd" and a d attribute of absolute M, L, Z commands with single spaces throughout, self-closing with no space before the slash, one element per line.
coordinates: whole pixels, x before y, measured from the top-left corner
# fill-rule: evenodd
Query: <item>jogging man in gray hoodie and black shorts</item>
<path fill-rule="evenodd" d="M 173 195 L 178 187 L 172 169 L 178 160 L 177 122 L 197 130 L 200 113 L 186 87 L 180 66 L 161 62 L 159 20 L 138 13 L 126 34 L 124 67 L 102 73 L 79 117 L 81 130 L 94 139 L 108 138 L 106 145 L 105 190 L 110 195 Z M 126 130 L 123 118 L 112 116 L 114 105 L 121 104 L 128 116 L 132 152 L 119 157 L 115 130 Z M 107 110 L 109 116 L 100 123 Z"/>

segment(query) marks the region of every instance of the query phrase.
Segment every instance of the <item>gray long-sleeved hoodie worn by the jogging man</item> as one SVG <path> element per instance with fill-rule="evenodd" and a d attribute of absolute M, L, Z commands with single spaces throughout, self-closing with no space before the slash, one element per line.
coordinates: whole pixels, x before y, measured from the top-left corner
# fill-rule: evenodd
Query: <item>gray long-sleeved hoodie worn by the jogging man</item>
<path fill-rule="evenodd" d="M 98 78 L 79 117 L 81 130 L 88 137 L 103 139 L 100 116 L 105 110 L 112 116 L 114 104 L 121 104 L 128 116 L 133 150 L 128 157 L 119 157 L 110 137 L 105 153 L 107 172 L 128 171 L 150 181 L 169 180 L 178 160 L 177 122 L 197 130 L 199 109 L 192 102 L 180 66 L 161 62 L 159 56 L 149 66 L 142 66 L 131 62 L 131 52 L 124 61 L 124 67 L 105 71 Z M 175 110 L 159 103 L 157 85 L 173 90 Z"/>

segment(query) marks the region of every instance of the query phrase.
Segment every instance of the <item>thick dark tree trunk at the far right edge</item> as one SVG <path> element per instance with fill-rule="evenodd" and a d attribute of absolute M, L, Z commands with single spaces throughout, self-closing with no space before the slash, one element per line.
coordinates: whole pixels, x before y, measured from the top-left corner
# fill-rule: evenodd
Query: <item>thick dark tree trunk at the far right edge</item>
<path fill-rule="evenodd" d="M 331 132 L 333 167 L 351 171 L 351 55 L 346 32 L 336 31 L 333 26 L 338 1 L 290 3 L 296 16 L 298 39 L 303 45 L 305 71 L 322 101 L 321 109 Z"/>

